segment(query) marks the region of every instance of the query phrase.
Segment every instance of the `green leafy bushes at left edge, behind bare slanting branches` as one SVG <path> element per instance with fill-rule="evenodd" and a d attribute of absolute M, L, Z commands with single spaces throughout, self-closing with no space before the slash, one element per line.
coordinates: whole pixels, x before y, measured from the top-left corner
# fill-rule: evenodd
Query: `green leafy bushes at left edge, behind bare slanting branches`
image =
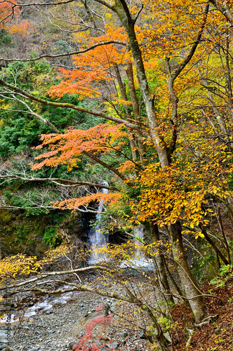
<path fill-rule="evenodd" d="M 8 83 L 15 84 L 23 89 L 29 89 L 34 95 L 46 96 L 46 90 L 58 81 L 55 77 L 55 69 L 48 62 L 13 62 L 2 69 L 1 77 Z M 9 96 L 11 97 L 11 96 Z M 48 98 L 48 97 L 47 97 Z M 51 99 L 48 99 L 51 100 Z M 64 95 L 59 102 L 68 102 L 76 106 L 90 107 L 79 99 L 78 95 Z M 48 119 L 61 132 L 69 126 L 88 129 L 102 123 L 100 117 L 89 117 L 83 112 L 41 105 L 37 102 L 27 102 L 30 108 L 41 117 Z M 0 119 L 0 156 L 7 157 L 13 153 L 30 150 L 39 144 L 40 134 L 53 133 L 51 127 L 39 121 L 37 117 L 28 113 L 27 108 L 8 100 L 0 101 L 0 107 L 16 110 L 16 112 L 2 110 Z M 92 104 L 93 105 L 93 104 Z M 22 111 L 22 112 L 17 112 Z"/>

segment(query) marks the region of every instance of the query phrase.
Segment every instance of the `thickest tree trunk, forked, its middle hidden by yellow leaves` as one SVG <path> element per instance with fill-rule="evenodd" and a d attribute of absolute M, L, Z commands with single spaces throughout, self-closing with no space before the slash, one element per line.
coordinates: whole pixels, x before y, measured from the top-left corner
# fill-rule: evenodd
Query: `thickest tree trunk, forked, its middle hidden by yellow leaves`
<path fill-rule="evenodd" d="M 145 74 L 145 67 L 142 60 L 142 53 L 140 51 L 140 46 L 138 44 L 138 40 L 135 34 L 135 28 L 134 28 L 135 22 L 131 17 L 131 13 L 128 10 L 128 6 L 125 0 L 115 0 L 114 11 L 119 16 L 119 19 L 121 20 L 121 23 L 122 25 L 124 25 L 124 28 L 126 29 L 126 32 L 128 34 L 131 52 L 132 52 L 133 59 L 135 61 L 135 66 L 137 69 L 138 81 L 140 83 L 140 89 L 142 91 L 143 100 L 145 102 L 145 109 L 147 112 L 150 134 L 151 134 L 152 140 L 154 141 L 154 146 L 157 149 L 161 168 L 164 168 L 165 166 L 169 165 L 169 159 L 167 154 L 168 147 L 166 143 L 164 143 L 164 140 L 161 137 L 161 135 L 159 135 L 158 133 L 159 124 L 157 122 L 156 111 L 154 108 L 154 100 L 149 92 L 149 86 L 148 86 L 147 77 Z M 208 4 L 206 5 L 205 13 L 207 16 Z M 189 55 L 173 74 L 173 81 L 175 80 L 175 77 L 178 77 L 178 74 L 182 71 L 185 65 L 187 65 L 189 60 L 191 60 L 192 55 L 194 54 L 199 44 L 199 40 L 201 39 L 201 34 L 204 30 L 204 25 L 206 21 L 206 16 L 204 19 L 204 24 L 201 26 L 200 32 L 197 36 L 196 41 L 194 42 L 194 45 L 192 46 L 192 49 Z M 174 100 L 174 103 L 177 103 L 177 100 Z M 177 109 L 174 109 L 174 110 L 176 111 Z M 173 145 L 173 147 L 175 147 L 175 145 Z M 180 222 L 177 222 L 171 225 L 170 230 L 171 230 L 172 245 L 173 245 L 173 256 L 178 265 L 178 273 L 180 275 L 182 287 L 189 301 L 189 305 L 192 308 L 195 321 L 200 322 L 201 318 L 204 315 L 204 304 L 201 298 L 201 293 L 197 289 L 197 284 L 194 282 L 194 278 L 192 277 L 192 273 L 189 269 L 187 260 L 185 258 L 184 249 L 182 245 L 182 234 L 181 234 Z"/>

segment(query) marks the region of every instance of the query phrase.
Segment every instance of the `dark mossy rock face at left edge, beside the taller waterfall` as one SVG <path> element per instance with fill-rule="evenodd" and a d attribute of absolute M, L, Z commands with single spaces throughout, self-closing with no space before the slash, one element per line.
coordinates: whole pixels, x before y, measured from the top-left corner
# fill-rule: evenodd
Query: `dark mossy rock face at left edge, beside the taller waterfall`
<path fill-rule="evenodd" d="M 50 247 L 49 237 L 58 234 L 58 244 L 64 236 L 86 241 L 84 223 L 80 213 L 64 216 L 56 211 L 39 216 L 26 216 L 25 211 L 0 210 L 1 255 L 25 253 L 41 258 Z M 59 218 L 59 226 L 58 226 Z M 64 239 L 64 238 L 63 238 Z"/>

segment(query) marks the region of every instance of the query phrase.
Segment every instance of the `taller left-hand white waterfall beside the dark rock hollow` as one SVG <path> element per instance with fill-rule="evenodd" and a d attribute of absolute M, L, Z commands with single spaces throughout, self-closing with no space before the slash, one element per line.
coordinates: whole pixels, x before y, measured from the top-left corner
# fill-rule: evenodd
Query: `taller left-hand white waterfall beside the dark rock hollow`
<path fill-rule="evenodd" d="M 106 181 L 102 182 L 102 185 L 108 185 Z M 107 194 L 108 190 L 102 188 L 102 194 Z M 98 206 L 98 213 L 96 215 L 97 225 L 91 228 L 89 232 L 89 246 L 91 249 L 91 258 L 89 260 L 89 265 L 95 265 L 100 261 L 106 261 L 107 256 L 105 253 L 98 252 L 98 249 L 106 248 L 108 242 L 108 235 L 102 232 L 103 224 L 101 223 L 102 219 L 102 211 L 104 209 L 103 206 L 104 201 L 100 201 Z"/>

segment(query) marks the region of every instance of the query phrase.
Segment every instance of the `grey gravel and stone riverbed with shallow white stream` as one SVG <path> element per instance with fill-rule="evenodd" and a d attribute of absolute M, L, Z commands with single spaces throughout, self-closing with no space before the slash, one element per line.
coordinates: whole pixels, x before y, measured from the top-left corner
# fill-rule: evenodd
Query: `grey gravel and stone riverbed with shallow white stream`
<path fill-rule="evenodd" d="M 89 277 L 90 278 L 90 277 Z M 95 282 L 95 277 L 91 277 Z M 65 293 L 60 296 L 32 296 L 25 298 L 19 314 L 15 312 L 11 348 L 17 351 L 67 351 L 71 350 L 84 336 L 86 325 L 105 313 L 102 307 L 108 305 L 114 312 L 112 322 L 105 328 L 98 328 L 90 340 L 100 350 L 148 351 L 149 345 L 144 333 L 136 324 L 121 321 L 117 314 L 126 308 L 111 298 L 102 298 L 83 291 Z M 122 305 L 123 304 L 123 305 Z M 23 311 L 23 312 L 22 312 Z M 110 311 L 110 313 L 111 313 Z M 131 311 L 132 312 L 132 311 Z M 24 315 L 22 316 L 22 313 Z M 20 322 L 21 315 L 21 322 Z M 13 316 L 12 316 L 13 318 Z M 0 350 L 6 350 L 6 325 L 0 324 Z"/>

